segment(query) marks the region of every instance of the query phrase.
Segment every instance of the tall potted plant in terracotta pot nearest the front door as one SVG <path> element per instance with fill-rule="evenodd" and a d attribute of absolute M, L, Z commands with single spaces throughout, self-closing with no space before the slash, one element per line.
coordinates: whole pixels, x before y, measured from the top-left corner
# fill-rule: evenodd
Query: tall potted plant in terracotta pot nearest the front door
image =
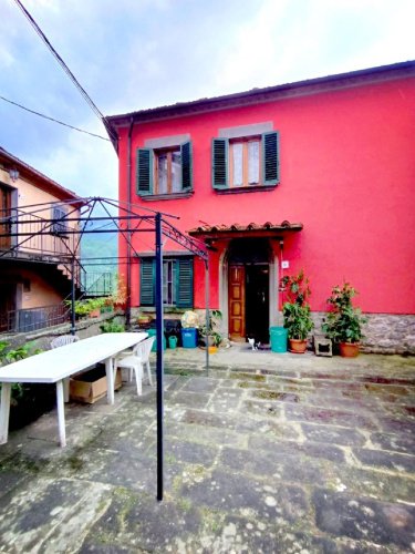
<path fill-rule="evenodd" d="M 304 353 L 308 335 L 314 327 L 308 302 L 311 295 L 309 279 L 301 269 L 297 276 L 283 277 L 281 288 L 286 290 L 288 298 L 288 301 L 282 306 L 282 315 L 289 350 L 294 353 Z"/>

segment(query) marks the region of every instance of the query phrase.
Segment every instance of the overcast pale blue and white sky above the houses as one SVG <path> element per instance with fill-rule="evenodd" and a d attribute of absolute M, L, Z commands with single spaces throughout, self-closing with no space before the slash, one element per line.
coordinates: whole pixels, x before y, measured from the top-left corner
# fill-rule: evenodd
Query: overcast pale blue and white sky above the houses
<path fill-rule="evenodd" d="M 22 0 L 105 115 L 415 59 L 415 0 Z M 13 0 L 0 95 L 105 136 Z M 81 196 L 117 197 L 108 142 L 0 99 L 0 145 Z"/>

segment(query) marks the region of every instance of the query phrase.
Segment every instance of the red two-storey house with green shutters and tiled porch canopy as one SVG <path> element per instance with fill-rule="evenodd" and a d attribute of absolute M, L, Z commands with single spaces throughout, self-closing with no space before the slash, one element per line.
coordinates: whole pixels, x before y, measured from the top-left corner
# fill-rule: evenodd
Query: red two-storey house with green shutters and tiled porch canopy
<path fill-rule="evenodd" d="M 120 199 L 179 216 L 208 245 L 210 307 L 230 338 L 267 340 L 281 277 L 304 269 L 317 320 L 349 281 L 367 348 L 415 350 L 415 62 L 107 121 Z M 133 239 L 132 305 L 152 308 L 154 238 Z M 204 264 L 172 240 L 164 257 L 166 310 L 204 308 Z"/>

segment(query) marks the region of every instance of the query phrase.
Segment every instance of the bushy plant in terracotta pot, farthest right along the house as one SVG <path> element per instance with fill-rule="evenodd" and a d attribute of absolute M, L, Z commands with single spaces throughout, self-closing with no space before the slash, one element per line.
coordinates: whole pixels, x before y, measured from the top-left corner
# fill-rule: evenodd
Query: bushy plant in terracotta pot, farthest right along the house
<path fill-rule="evenodd" d="M 349 283 L 335 286 L 328 299 L 330 311 L 322 329 L 334 345 L 339 345 L 340 355 L 352 358 L 359 355 L 360 341 L 364 337 L 362 326 L 367 319 L 355 308 L 352 298 L 357 294 Z"/>

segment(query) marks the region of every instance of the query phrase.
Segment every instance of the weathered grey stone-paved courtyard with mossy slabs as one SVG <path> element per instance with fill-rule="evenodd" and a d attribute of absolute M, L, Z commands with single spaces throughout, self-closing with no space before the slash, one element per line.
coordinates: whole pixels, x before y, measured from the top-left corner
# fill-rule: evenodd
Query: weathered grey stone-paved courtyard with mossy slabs
<path fill-rule="evenodd" d="M 0 447 L 0 552 L 415 552 L 415 359 L 166 352 L 155 392 L 66 407 Z"/>

